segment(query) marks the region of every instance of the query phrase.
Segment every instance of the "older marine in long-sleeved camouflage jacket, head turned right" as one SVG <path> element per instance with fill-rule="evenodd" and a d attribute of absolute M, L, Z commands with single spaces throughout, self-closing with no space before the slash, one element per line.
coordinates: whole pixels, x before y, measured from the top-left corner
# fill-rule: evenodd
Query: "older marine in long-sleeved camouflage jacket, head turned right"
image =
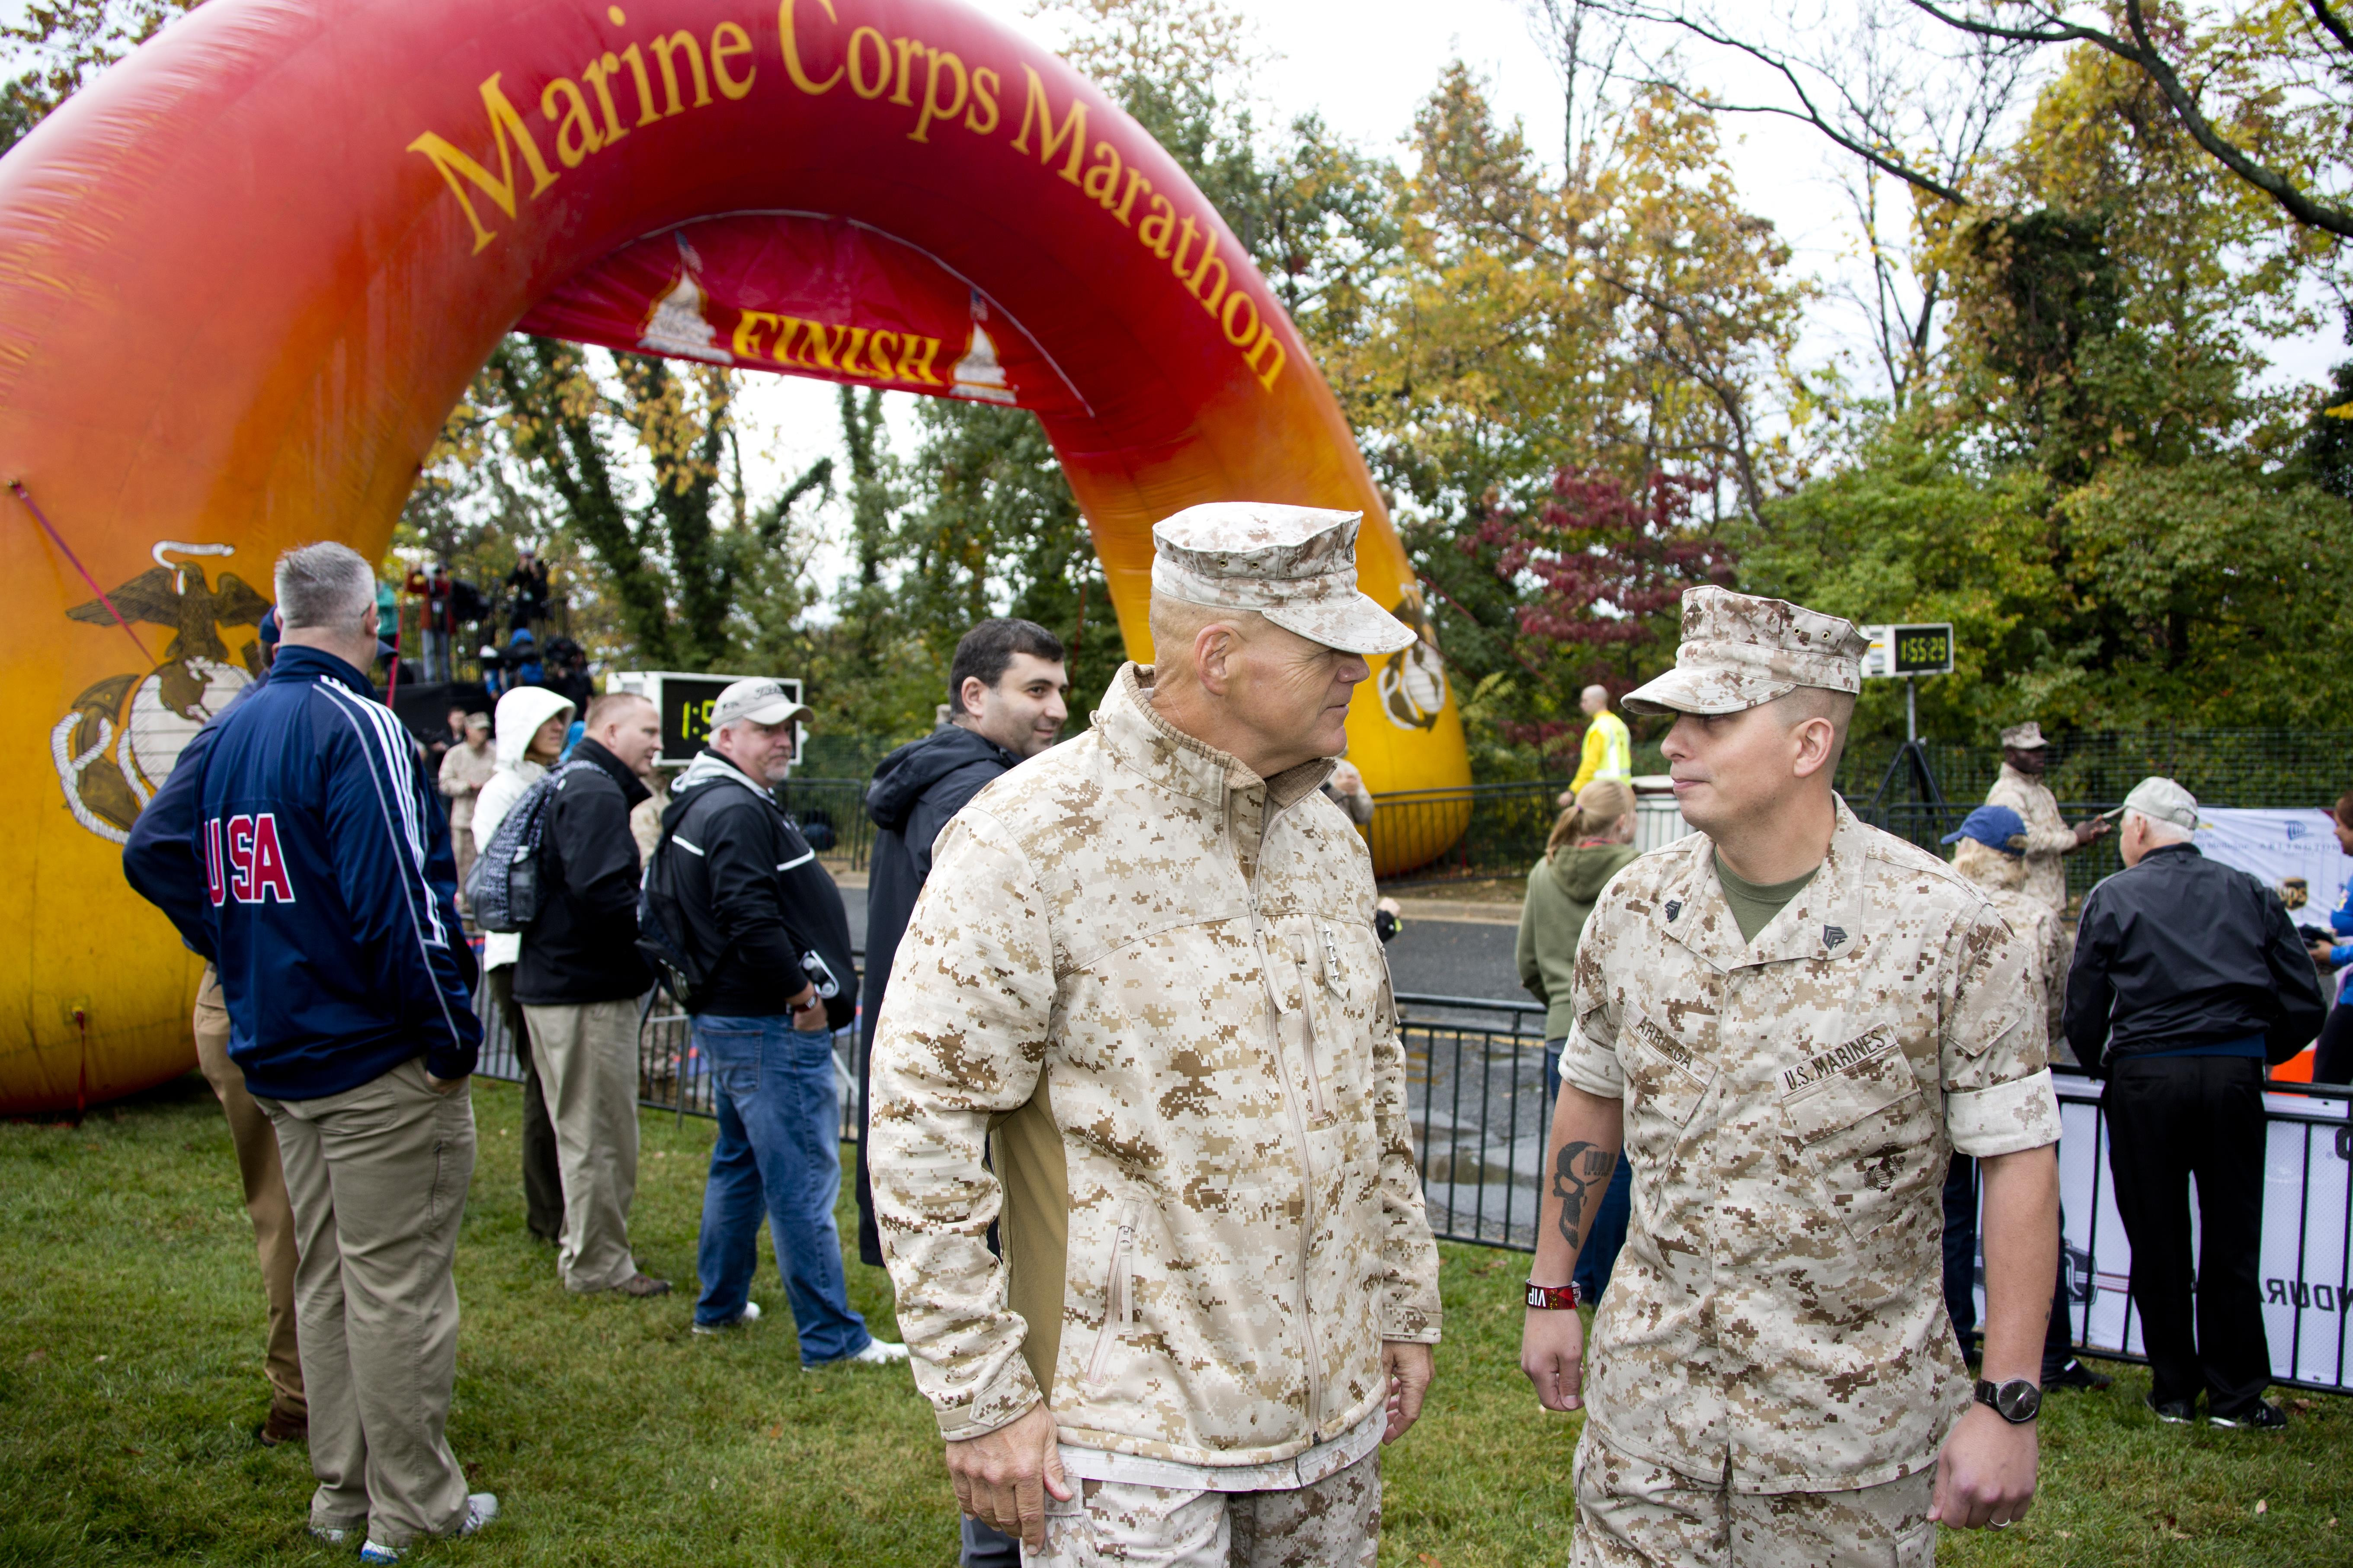
<path fill-rule="evenodd" d="M 1362 656 L 1412 639 L 1355 529 L 1155 527 L 1158 663 L 948 823 L 892 964 L 899 1324 L 958 1502 L 1033 1566 L 1369 1568 L 1379 1443 L 1431 1380 L 1372 860 L 1320 792 Z"/>

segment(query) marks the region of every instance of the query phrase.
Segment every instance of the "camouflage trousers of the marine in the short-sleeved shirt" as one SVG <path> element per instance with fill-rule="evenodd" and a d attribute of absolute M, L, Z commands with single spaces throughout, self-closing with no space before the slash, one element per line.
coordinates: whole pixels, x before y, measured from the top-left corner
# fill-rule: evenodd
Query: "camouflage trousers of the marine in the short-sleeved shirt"
<path fill-rule="evenodd" d="M 1929 1568 L 1934 1467 L 1849 1493 L 1737 1493 L 1577 1443 L 1569 1568 Z"/>

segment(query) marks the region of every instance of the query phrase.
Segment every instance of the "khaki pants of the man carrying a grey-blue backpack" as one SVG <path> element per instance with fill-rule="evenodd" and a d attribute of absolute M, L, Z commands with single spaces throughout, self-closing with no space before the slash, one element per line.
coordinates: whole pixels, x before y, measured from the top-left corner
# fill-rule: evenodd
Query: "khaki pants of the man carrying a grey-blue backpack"
<path fill-rule="evenodd" d="M 638 1004 L 525 1004 L 522 1020 L 565 1173 L 555 1269 L 567 1291 L 612 1291 L 638 1272 L 628 1253 L 628 1206 L 638 1197 Z"/>

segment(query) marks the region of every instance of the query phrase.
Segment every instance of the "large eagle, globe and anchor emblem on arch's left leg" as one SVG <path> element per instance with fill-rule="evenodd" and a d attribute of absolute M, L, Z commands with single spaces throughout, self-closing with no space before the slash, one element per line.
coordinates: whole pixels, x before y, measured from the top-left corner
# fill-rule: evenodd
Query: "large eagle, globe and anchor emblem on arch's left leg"
<path fill-rule="evenodd" d="M 233 571 L 219 583 L 191 557 L 235 555 L 235 545 L 155 541 L 155 567 L 108 597 L 125 621 L 162 625 L 172 639 L 146 675 L 108 675 L 73 698 L 49 729 L 49 759 L 66 806 L 89 832 L 122 844 L 179 752 L 261 672 L 259 642 L 231 654 L 221 628 L 261 625 L 271 602 Z M 174 559 L 179 557 L 179 559 Z M 104 599 L 66 611 L 68 621 L 113 625 Z"/>

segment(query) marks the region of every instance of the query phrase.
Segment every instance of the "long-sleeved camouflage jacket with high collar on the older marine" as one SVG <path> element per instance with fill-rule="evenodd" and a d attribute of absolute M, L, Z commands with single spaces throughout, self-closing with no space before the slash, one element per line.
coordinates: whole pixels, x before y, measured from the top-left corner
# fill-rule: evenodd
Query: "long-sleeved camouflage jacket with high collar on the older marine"
<path fill-rule="evenodd" d="M 1259 780 L 1148 682 L 941 832 L 875 1034 L 875 1218 L 944 1436 L 1047 1392 L 1066 1446 L 1271 1465 L 1379 1413 L 1381 1340 L 1438 1340 L 1438 1246 L 1332 764 Z"/>

